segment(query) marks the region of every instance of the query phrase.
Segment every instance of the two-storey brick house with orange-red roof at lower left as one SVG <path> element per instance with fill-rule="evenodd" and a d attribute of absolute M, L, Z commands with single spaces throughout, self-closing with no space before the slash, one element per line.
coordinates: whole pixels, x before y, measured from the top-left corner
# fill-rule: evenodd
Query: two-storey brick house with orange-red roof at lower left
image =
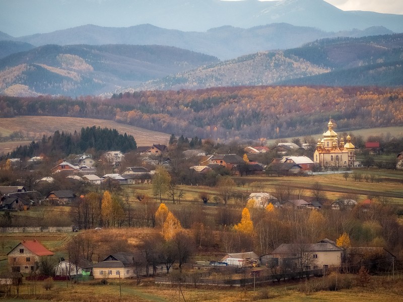
<path fill-rule="evenodd" d="M 23 240 L 7 254 L 12 271 L 21 273 L 36 272 L 41 258 L 52 255 L 37 240 Z"/>

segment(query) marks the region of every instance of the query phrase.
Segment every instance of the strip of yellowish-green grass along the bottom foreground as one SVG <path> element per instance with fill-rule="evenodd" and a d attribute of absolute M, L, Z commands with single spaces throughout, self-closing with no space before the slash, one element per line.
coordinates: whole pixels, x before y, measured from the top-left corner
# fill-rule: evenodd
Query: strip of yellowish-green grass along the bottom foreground
<path fill-rule="evenodd" d="M 154 285 L 152 280 L 145 279 L 141 285 L 135 281 L 121 281 L 121 297 L 118 281 L 108 282 L 107 285 L 99 285 L 95 281 L 83 282 L 72 285 L 65 282 L 54 282 L 51 290 L 46 291 L 42 282 L 37 282 L 37 294 L 28 295 L 29 283 L 25 282 L 20 289 L 19 298 L 13 301 L 398 301 L 403 297 L 403 284 L 401 280 L 388 286 L 377 284 L 378 277 L 372 278 L 372 286 L 353 287 L 338 291 L 315 291 L 304 290 L 306 281 L 293 283 L 271 283 L 258 285 L 253 291 L 253 286 L 245 288 L 237 287 L 196 287 L 190 285 Z M 308 282 L 320 282 L 310 280 Z M 384 283 L 383 281 L 378 283 Z M 182 296 L 183 293 L 183 296 Z"/>

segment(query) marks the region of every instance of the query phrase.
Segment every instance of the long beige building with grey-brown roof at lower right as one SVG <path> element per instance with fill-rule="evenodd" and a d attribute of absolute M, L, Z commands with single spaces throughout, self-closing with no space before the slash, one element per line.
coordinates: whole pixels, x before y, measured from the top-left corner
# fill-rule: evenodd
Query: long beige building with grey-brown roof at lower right
<path fill-rule="evenodd" d="M 324 239 L 313 244 L 283 243 L 272 252 L 274 263 L 290 270 L 309 270 L 329 266 L 340 267 L 343 248 Z"/>

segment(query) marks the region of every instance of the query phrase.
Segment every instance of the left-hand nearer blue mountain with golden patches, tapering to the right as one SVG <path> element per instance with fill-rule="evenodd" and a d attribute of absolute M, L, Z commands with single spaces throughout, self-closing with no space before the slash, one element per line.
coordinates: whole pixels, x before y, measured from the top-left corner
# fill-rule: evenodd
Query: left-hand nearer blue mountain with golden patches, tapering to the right
<path fill-rule="evenodd" d="M 0 91 L 14 96 L 98 95 L 218 61 L 161 45 L 45 45 L 0 60 Z"/>

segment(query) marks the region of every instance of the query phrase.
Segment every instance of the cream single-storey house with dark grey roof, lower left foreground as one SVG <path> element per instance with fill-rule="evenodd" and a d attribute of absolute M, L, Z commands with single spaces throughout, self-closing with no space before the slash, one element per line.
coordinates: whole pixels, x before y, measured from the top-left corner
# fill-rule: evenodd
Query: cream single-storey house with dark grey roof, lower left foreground
<path fill-rule="evenodd" d="M 135 277 L 135 261 L 138 257 L 135 253 L 111 254 L 103 261 L 93 264 L 94 279 Z"/>

